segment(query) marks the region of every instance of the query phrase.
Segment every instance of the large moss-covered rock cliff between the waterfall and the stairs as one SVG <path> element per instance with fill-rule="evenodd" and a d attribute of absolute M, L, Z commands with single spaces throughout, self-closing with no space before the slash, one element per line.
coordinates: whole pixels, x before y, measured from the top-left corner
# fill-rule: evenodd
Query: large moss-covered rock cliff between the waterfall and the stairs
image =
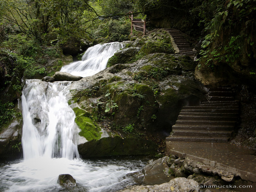
<path fill-rule="evenodd" d="M 127 143 L 152 142 L 150 135 L 165 137 L 182 106 L 206 100 L 206 89 L 194 79 L 196 63 L 190 57 L 173 54 L 169 37 L 168 33 L 159 30 L 125 42 L 126 48 L 109 60 L 108 68 L 71 85 L 69 103 L 80 107 L 74 109 L 79 127 L 93 126 L 92 120 L 111 136 L 98 140 L 98 135 L 79 145 L 81 154 L 93 155 L 87 145 L 98 149 L 95 156 L 142 153 L 140 149 L 138 153 L 135 148 L 129 150 Z M 149 46 L 158 43 L 167 44 L 167 48 Z M 127 148 L 120 148 L 119 142 Z M 108 149 L 100 147 L 102 143 Z M 152 152 L 151 149 L 142 150 L 143 154 Z M 105 150 L 108 153 L 105 154 Z"/>

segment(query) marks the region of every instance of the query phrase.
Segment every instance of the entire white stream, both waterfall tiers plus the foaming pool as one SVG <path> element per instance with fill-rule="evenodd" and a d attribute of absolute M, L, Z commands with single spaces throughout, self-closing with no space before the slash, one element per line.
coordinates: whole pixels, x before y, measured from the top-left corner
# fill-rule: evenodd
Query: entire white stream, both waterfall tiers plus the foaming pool
<path fill-rule="evenodd" d="M 106 68 L 108 58 L 122 43 L 89 48 L 83 61 L 64 66 L 62 71 L 90 76 Z M 63 191 L 59 174 L 70 174 L 78 183 L 76 191 L 112 192 L 134 183 L 127 177 L 145 164 L 132 161 L 86 161 L 79 159 L 76 146 L 75 114 L 66 101 L 72 82 L 27 80 L 22 91 L 24 160 L 0 166 L 0 191 Z"/>

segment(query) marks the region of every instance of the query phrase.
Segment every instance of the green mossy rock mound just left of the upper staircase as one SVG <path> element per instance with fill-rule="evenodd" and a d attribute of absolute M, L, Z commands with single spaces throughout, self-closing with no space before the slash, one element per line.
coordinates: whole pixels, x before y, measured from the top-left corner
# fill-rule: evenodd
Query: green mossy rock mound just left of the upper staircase
<path fill-rule="evenodd" d="M 140 49 L 138 54 L 143 53 L 144 55 L 148 55 L 150 53 L 166 53 L 171 54 L 174 53 L 174 48 L 171 44 L 158 42 L 158 41 L 149 41 L 145 43 Z"/>

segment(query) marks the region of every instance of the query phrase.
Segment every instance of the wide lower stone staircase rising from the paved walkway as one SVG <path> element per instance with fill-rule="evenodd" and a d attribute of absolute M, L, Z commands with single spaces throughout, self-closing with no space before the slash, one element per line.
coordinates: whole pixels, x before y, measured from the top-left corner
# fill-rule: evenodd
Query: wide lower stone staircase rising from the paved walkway
<path fill-rule="evenodd" d="M 239 116 L 239 102 L 231 88 L 208 92 L 208 101 L 183 107 L 166 141 L 226 143 Z"/>

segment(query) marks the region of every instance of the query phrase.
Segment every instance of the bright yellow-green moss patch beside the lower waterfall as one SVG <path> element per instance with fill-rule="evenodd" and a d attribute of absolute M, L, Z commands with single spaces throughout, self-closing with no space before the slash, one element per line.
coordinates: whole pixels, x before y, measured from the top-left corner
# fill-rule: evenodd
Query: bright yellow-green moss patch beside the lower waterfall
<path fill-rule="evenodd" d="M 81 129 L 79 135 L 86 138 L 88 141 L 100 139 L 101 129 L 96 127 L 89 117 L 78 116 L 75 118 L 75 122 Z"/>

